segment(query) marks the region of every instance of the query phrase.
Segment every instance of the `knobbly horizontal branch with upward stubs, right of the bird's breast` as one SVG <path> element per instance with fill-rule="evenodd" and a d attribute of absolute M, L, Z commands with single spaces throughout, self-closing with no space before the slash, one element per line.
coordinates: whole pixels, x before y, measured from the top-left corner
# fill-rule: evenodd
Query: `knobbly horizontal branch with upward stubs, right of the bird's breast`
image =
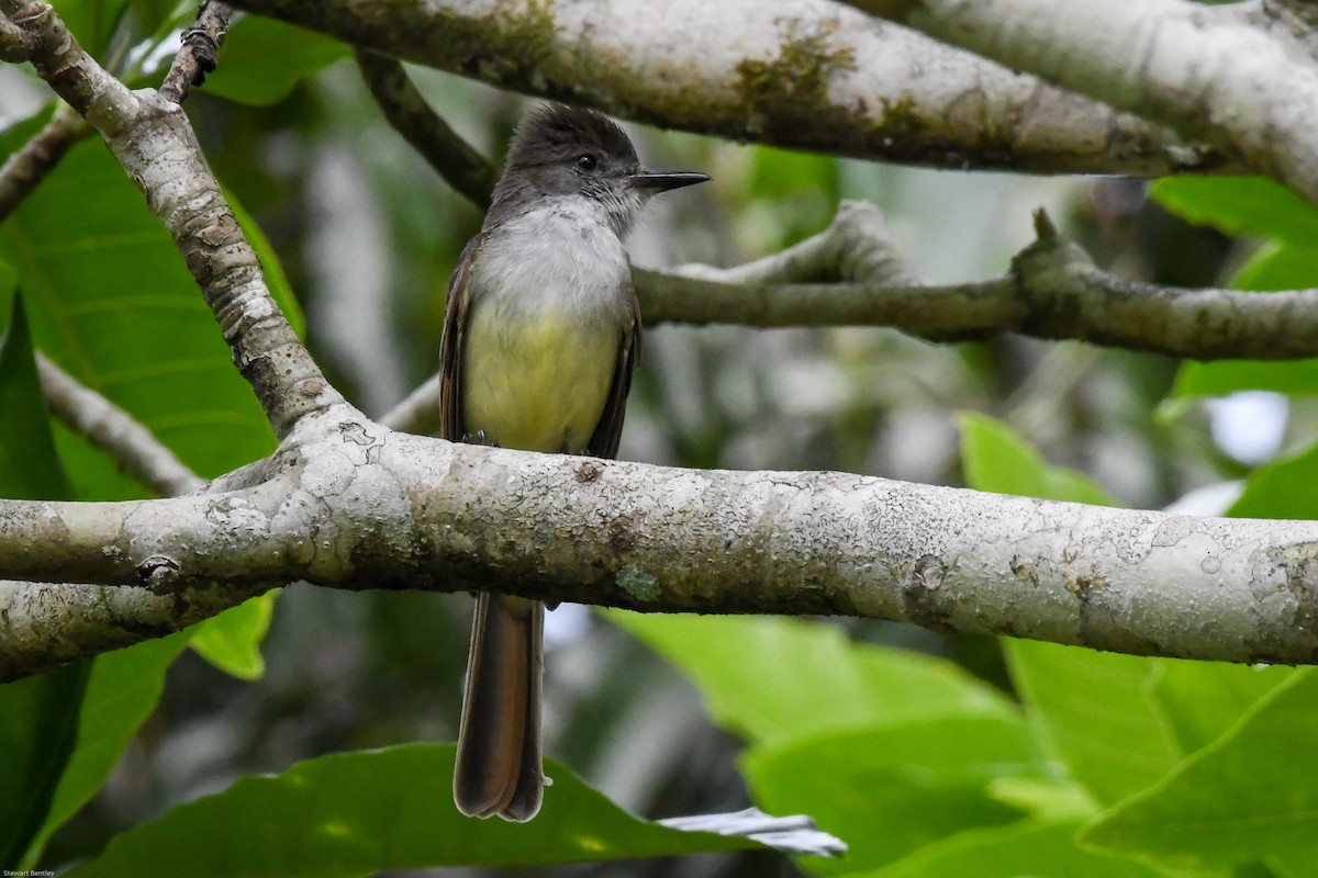
<path fill-rule="evenodd" d="M 1318 290 L 1160 287 L 1099 269 L 1043 213 L 1039 238 L 988 280 L 925 284 L 874 207 L 845 203 L 796 247 L 735 269 L 634 270 L 642 317 L 749 326 L 892 326 L 931 341 L 1016 332 L 1191 359 L 1318 357 Z M 813 280 L 815 283 L 805 283 Z"/>

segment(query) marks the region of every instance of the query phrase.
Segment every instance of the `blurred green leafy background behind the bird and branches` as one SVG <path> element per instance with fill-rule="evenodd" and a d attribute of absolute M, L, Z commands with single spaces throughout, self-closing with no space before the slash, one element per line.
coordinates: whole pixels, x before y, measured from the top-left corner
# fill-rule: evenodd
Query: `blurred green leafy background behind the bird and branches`
<path fill-rule="evenodd" d="M 159 80 L 195 13 L 166 0 L 55 5 L 134 86 Z M 335 383 L 380 412 L 434 371 L 443 290 L 481 217 L 384 126 L 344 54 L 240 17 L 187 112 L 281 307 Z M 526 101 L 411 72 L 500 161 Z M 49 115 L 8 120 L 0 150 Z M 855 197 L 884 209 L 936 280 L 1002 271 L 1039 203 L 1131 276 L 1220 274 L 1261 291 L 1318 275 L 1318 213 L 1263 180 L 1164 180 L 1151 203 L 1122 182 L 882 167 L 631 130 L 650 163 L 714 176 L 655 205 L 633 241 L 647 265 L 757 258 L 824 229 Z M 9 317 L 24 313 L 14 284 L 26 319 Z M 0 225 L 0 495 L 146 494 L 49 423 L 33 345 L 203 475 L 273 449 L 178 254 L 99 142 L 76 146 Z M 1309 516 L 1318 475 L 1301 428 L 1314 423 L 1304 395 L 1315 382 L 1311 362 L 662 326 L 647 337 L 622 454 L 1135 507 L 1244 475 L 1234 513 Z M 1286 457 L 1256 471 L 1217 452 L 1197 405 L 1242 388 L 1292 395 L 1300 425 Z M 608 798 L 555 767 L 535 823 L 467 821 L 448 802 L 451 748 L 413 744 L 456 735 L 467 612 L 459 599 L 294 583 L 196 629 L 0 687 L 0 866 L 355 875 L 600 860 L 547 873 L 1288 878 L 1318 862 L 1318 783 L 1298 756 L 1318 721 L 1309 671 L 858 621 L 561 609 L 548 749 Z M 850 856 L 673 858 L 743 842 L 684 837 L 614 804 L 667 816 L 747 800 L 812 815 Z"/>

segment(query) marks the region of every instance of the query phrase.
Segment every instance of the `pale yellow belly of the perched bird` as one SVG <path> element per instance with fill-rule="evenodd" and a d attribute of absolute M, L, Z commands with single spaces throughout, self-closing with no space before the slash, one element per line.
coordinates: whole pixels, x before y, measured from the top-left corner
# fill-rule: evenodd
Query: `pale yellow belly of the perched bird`
<path fill-rule="evenodd" d="M 621 330 L 552 311 L 507 320 L 477 308 L 463 342 L 463 416 L 485 442 L 580 454 L 613 384 Z"/>

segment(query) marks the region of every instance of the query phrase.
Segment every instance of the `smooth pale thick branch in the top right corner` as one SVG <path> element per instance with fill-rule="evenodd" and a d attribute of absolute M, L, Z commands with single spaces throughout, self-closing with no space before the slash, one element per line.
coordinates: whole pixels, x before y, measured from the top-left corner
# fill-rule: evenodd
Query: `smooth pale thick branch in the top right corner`
<path fill-rule="evenodd" d="M 1188 0 L 847 0 L 1172 125 L 1318 200 L 1318 61 L 1280 5 Z M 1242 14 L 1246 11 L 1248 14 Z"/>

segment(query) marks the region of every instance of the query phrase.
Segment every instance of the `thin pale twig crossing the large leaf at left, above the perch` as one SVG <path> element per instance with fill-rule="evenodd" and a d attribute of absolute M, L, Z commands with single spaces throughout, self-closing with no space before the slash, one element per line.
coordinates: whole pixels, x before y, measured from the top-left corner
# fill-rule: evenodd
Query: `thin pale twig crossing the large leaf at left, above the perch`
<path fill-rule="evenodd" d="M 78 383 L 43 354 L 37 354 L 41 390 L 55 417 L 107 452 L 119 469 L 161 496 L 195 491 L 203 479 L 179 461 L 156 434 L 108 399 Z"/>

